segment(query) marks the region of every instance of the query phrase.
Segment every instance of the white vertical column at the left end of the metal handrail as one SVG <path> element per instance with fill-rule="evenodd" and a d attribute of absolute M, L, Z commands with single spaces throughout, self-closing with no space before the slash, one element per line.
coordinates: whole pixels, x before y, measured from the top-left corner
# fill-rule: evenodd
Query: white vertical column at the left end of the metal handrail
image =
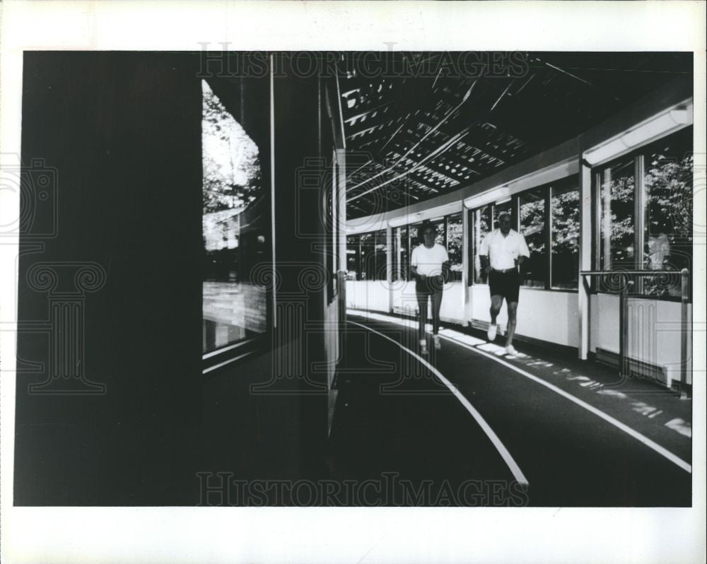
<path fill-rule="evenodd" d="M 580 161 L 581 162 L 581 161 Z M 592 269 L 592 169 L 582 164 L 579 171 L 580 242 L 579 270 Z M 579 358 L 587 360 L 590 349 L 589 285 L 585 276 L 578 281 Z"/>

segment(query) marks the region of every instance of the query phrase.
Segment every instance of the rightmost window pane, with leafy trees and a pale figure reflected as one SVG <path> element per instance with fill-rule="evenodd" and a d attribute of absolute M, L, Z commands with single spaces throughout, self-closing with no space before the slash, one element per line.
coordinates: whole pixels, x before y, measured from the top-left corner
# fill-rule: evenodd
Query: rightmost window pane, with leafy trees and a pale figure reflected
<path fill-rule="evenodd" d="M 692 268 L 692 128 L 647 148 L 643 268 Z M 643 293 L 681 295 L 677 276 L 644 278 Z"/>

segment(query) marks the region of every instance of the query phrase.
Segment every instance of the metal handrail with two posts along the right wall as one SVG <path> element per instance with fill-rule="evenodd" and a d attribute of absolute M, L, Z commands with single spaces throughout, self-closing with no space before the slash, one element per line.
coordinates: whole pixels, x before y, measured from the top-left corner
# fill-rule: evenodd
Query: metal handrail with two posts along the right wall
<path fill-rule="evenodd" d="M 689 277 L 690 271 L 674 270 L 582 270 L 583 283 L 586 289 L 587 276 L 607 276 L 621 281 L 619 286 L 619 377 L 622 379 L 629 375 L 629 360 L 626 358 L 626 341 L 629 338 L 629 329 L 626 317 L 629 314 L 628 290 L 633 286 L 629 276 L 680 276 L 680 392 L 684 394 L 687 384 L 687 305 L 689 303 Z"/>

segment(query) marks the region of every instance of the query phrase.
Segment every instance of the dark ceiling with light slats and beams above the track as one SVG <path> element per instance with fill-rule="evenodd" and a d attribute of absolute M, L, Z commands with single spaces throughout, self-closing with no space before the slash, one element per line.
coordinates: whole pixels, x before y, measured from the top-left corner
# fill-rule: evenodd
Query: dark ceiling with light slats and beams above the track
<path fill-rule="evenodd" d="M 460 189 L 692 72 L 682 53 L 346 53 L 347 216 Z"/>

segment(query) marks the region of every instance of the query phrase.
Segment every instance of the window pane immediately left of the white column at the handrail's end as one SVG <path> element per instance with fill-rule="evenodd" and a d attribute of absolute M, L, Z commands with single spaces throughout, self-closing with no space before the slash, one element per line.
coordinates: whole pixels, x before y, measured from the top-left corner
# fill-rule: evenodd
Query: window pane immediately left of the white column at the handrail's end
<path fill-rule="evenodd" d="M 552 288 L 577 288 L 579 270 L 579 189 L 551 187 Z"/>

